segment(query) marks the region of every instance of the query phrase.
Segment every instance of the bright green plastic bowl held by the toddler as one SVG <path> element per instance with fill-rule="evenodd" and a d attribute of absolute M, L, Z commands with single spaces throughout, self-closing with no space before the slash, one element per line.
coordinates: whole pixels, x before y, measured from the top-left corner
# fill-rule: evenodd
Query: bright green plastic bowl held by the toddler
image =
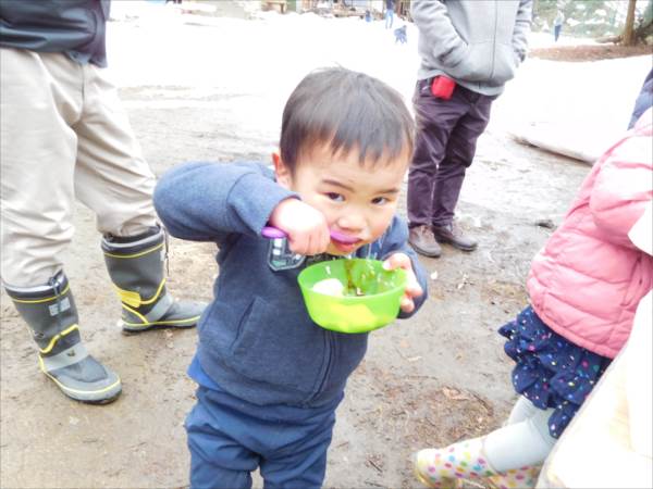
<path fill-rule="evenodd" d="M 340 281 L 344 297 L 315 290 L 324 279 Z M 396 319 L 406 272 L 383 269 L 378 260 L 332 260 L 306 267 L 297 280 L 308 314 L 319 326 L 338 333 L 367 333 Z"/>

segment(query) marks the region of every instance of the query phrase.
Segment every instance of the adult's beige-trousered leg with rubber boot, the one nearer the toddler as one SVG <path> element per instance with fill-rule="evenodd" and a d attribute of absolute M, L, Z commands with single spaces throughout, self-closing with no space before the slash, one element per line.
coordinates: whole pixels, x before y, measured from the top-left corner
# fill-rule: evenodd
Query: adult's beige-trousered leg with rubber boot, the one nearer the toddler
<path fill-rule="evenodd" d="M 175 301 L 165 289 L 164 231 L 158 227 L 155 176 L 145 162 L 115 87 L 85 68 L 75 189 L 97 214 L 109 275 L 122 302 L 123 329 L 192 327 L 206 304 Z"/>

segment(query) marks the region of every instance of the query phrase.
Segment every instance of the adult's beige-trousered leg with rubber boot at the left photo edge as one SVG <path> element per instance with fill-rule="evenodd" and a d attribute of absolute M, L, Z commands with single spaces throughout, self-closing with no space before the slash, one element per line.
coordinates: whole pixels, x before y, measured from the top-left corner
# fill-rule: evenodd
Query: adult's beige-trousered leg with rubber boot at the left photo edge
<path fill-rule="evenodd" d="M 2 279 L 38 347 L 41 371 L 75 400 L 103 403 L 120 378 L 79 334 L 61 253 L 73 235 L 82 70 L 63 54 L 0 49 Z"/>

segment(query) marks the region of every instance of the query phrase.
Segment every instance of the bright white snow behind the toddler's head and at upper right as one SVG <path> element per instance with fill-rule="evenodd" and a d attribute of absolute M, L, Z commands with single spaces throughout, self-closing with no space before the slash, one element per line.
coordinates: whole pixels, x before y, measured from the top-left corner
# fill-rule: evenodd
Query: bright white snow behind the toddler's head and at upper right
<path fill-rule="evenodd" d="M 185 93 L 130 102 L 137 106 L 204 103 L 227 114 L 234 134 L 273 141 L 283 105 L 297 83 L 312 70 L 340 65 L 384 80 L 412 110 L 419 66 L 412 23 L 406 23 L 408 42 L 402 45 L 395 43 L 393 29 L 385 29 L 383 21 L 275 12 L 245 21 L 193 15 L 151 2 L 113 5 L 122 18 L 108 27 L 109 71 L 115 84 L 150 87 L 150 93 Z M 530 35 L 531 48 L 589 43 L 594 42 L 564 33 L 556 43 L 550 34 Z M 609 135 L 625 130 L 649 70 L 650 57 L 583 63 L 527 58 L 494 102 L 483 137 L 501 138 L 515 128 L 549 123 L 560 134 L 577 135 L 583 145 L 602 149 L 612 142 Z"/>

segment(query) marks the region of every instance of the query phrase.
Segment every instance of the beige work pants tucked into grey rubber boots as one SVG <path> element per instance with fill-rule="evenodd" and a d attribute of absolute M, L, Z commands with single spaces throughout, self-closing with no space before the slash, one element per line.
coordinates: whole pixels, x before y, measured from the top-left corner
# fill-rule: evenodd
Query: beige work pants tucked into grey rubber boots
<path fill-rule="evenodd" d="M 104 71 L 65 54 L 0 49 L 1 274 L 47 283 L 63 267 L 74 201 L 100 233 L 156 224 L 155 176 Z"/>

